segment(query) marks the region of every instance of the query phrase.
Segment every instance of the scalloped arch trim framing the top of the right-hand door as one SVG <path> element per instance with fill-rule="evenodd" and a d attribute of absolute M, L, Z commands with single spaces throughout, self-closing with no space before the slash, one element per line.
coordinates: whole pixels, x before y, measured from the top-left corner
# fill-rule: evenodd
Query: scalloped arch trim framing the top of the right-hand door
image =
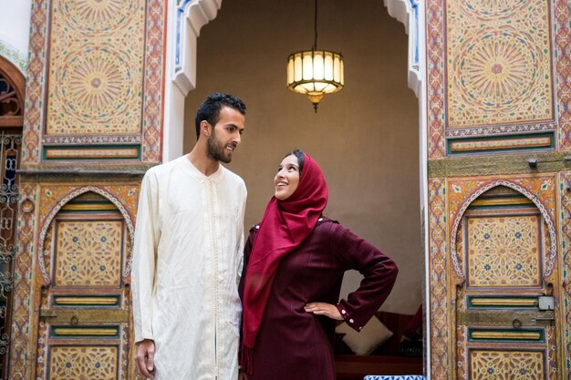
<path fill-rule="evenodd" d="M 450 250 L 451 250 L 452 265 L 454 267 L 454 271 L 461 279 L 464 278 L 465 268 L 460 263 L 459 252 L 456 252 L 456 240 L 458 236 L 458 228 L 460 226 L 460 222 L 462 221 L 464 213 L 466 212 L 472 201 L 476 200 L 484 192 L 491 190 L 497 186 L 505 186 L 507 188 L 511 188 L 513 190 L 516 190 L 524 194 L 526 198 L 534 202 L 535 207 L 537 207 L 541 215 L 544 217 L 545 224 L 547 225 L 547 231 L 549 232 L 549 239 L 551 240 L 550 241 L 551 244 L 549 247 L 550 252 L 548 252 L 548 254 L 545 257 L 545 276 L 550 275 L 555 266 L 555 256 L 556 256 L 556 247 L 557 247 L 554 222 L 549 217 L 549 213 L 547 212 L 547 210 L 545 210 L 544 205 L 537 199 L 537 197 L 535 197 L 534 194 L 532 194 L 528 190 L 525 190 L 523 187 L 515 184 L 514 182 L 510 182 L 509 180 L 494 180 L 493 182 L 488 183 L 487 185 L 483 186 L 482 189 L 475 191 L 472 194 L 472 196 L 468 198 L 466 201 L 464 201 L 464 203 L 462 204 L 462 208 L 458 211 L 456 219 L 452 224 L 452 233 L 450 235 L 451 236 Z"/>

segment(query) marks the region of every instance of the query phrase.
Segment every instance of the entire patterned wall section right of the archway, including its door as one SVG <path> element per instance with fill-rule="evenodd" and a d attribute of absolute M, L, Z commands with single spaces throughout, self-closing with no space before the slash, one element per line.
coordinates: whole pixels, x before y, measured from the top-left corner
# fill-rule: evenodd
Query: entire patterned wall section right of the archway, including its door
<path fill-rule="evenodd" d="M 531 149 L 571 150 L 569 1 L 427 0 L 425 4 L 426 159 L 456 164 L 452 162 L 456 158 L 447 156 L 475 154 L 499 163 L 480 171 L 487 161 L 459 158 L 459 165 L 473 164 L 471 174 L 429 174 L 432 378 L 568 379 L 571 172 L 567 161 L 563 173 L 541 166 L 540 173 L 534 173 L 516 168 L 514 162 L 533 158 Z M 521 155 L 502 154 L 502 149 L 514 150 L 506 149 L 510 144 L 526 148 L 520 149 Z M 564 160 L 563 155 L 559 159 Z M 497 180 L 510 182 L 508 186 L 524 193 L 540 212 L 532 211 L 531 204 L 514 207 L 520 207 L 519 212 L 507 207 L 502 213 L 490 207 L 463 207 L 478 200 L 479 189 Z M 508 215 L 509 220 L 504 218 Z M 546 286 L 549 283 L 553 289 Z M 533 300 L 544 292 L 555 297 L 555 323 L 536 324 L 544 343 L 473 340 L 469 321 L 479 321 L 482 313 L 499 318 L 494 328 L 479 325 L 492 336 L 518 333 L 510 330 L 510 310 L 503 306 L 475 310 L 474 295 L 482 297 L 479 301 L 504 298 L 509 304 L 522 301 L 525 294 Z M 528 311 L 517 313 L 529 317 Z M 497 327 L 500 317 L 510 322 L 503 330 Z"/>

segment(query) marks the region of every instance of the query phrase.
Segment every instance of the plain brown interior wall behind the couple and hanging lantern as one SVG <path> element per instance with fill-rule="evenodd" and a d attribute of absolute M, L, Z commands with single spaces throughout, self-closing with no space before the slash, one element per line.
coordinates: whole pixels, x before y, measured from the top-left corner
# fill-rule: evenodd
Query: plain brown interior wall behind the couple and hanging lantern
<path fill-rule="evenodd" d="M 185 102 L 184 150 L 192 149 L 196 108 L 209 93 L 243 98 L 246 128 L 227 167 L 248 188 L 246 228 L 262 218 L 285 153 L 304 149 L 327 180 L 325 214 L 400 267 L 381 309 L 414 313 L 422 298 L 423 252 L 419 114 L 407 87 L 408 36 L 380 0 L 320 2 L 317 47 L 343 54 L 346 87 L 324 97 L 316 114 L 306 97 L 285 87 L 286 58 L 312 46 L 313 19 L 314 3 L 307 0 L 223 2 L 198 39 L 197 87 Z M 360 278 L 348 272 L 341 295 Z"/>

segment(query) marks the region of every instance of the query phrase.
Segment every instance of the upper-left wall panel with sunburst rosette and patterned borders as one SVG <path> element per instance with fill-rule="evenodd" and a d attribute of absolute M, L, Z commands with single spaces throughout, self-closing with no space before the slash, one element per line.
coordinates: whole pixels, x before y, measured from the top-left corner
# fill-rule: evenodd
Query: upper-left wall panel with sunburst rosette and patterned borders
<path fill-rule="evenodd" d="M 32 3 L 22 169 L 160 162 L 166 3 Z"/>

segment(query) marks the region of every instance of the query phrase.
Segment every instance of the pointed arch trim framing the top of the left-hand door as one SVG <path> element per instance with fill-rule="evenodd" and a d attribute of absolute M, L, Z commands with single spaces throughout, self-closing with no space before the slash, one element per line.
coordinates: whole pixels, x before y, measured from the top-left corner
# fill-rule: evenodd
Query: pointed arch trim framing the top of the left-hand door
<path fill-rule="evenodd" d="M 59 200 L 59 202 L 57 202 L 56 207 L 54 207 L 53 210 L 50 211 L 50 213 L 47 215 L 46 221 L 44 221 L 42 231 L 39 234 L 38 245 L 37 245 L 37 247 L 38 247 L 38 249 L 37 249 L 37 262 L 39 264 L 40 272 L 42 273 L 44 285 L 46 285 L 46 286 L 51 283 L 51 278 L 49 276 L 49 273 L 47 272 L 46 265 L 45 265 L 44 260 L 43 260 L 44 241 L 46 241 L 47 230 L 49 229 L 49 226 L 51 225 L 54 218 L 56 218 L 57 212 L 59 212 L 66 205 L 66 203 L 69 200 L 73 200 L 74 198 L 78 197 L 79 195 L 84 194 L 84 193 L 89 192 L 89 191 L 99 194 L 100 196 L 106 198 L 111 203 L 113 203 L 115 205 L 115 207 L 117 207 L 117 209 L 119 210 L 119 212 L 123 216 L 125 223 L 127 224 L 127 230 L 129 231 L 130 246 L 131 247 L 133 246 L 133 242 L 134 242 L 134 238 L 135 238 L 135 228 L 133 226 L 133 222 L 130 219 L 129 212 L 127 212 L 127 210 L 125 210 L 125 208 L 119 202 L 119 200 L 117 200 L 115 197 L 113 197 L 109 192 L 107 192 L 105 190 L 101 190 L 101 189 L 96 188 L 94 186 L 85 186 L 85 187 L 82 187 L 80 189 L 73 190 L 69 194 L 67 194 L 67 196 L 64 197 L 62 200 Z M 127 264 L 125 265 L 125 269 L 123 270 L 123 277 L 128 277 L 130 275 L 130 264 L 131 264 L 130 255 L 128 255 L 126 257 L 126 262 L 127 262 Z"/>

